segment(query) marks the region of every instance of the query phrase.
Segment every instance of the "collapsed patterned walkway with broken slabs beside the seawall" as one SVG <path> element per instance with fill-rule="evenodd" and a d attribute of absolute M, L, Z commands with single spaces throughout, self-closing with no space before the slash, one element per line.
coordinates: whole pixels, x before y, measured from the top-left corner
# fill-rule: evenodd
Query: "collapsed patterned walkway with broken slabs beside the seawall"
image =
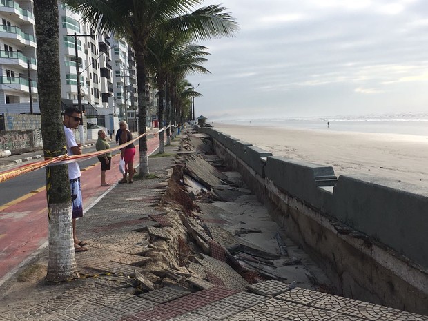
<path fill-rule="evenodd" d="M 155 178 L 115 186 L 77 223 L 81 278 L 43 281 L 46 249 L 0 287 L 0 321 L 428 320 L 327 293 L 239 175 L 208 167 L 221 159 L 200 157 L 197 135 L 177 143 L 149 159 Z"/>

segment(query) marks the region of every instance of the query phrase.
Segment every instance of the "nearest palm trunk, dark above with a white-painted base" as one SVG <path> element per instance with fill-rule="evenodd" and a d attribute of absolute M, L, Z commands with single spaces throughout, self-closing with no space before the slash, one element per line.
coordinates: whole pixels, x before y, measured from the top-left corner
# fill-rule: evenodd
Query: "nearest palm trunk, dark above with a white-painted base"
<path fill-rule="evenodd" d="M 34 13 L 43 150 L 45 157 L 55 157 L 67 153 L 61 121 L 57 0 L 35 0 Z M 67 165 L 46 168 L 49 221 L 46 278 L 50 281 L 64 281 L 79 276 L 72 240 L 71 193 L 67 172 Z"/>

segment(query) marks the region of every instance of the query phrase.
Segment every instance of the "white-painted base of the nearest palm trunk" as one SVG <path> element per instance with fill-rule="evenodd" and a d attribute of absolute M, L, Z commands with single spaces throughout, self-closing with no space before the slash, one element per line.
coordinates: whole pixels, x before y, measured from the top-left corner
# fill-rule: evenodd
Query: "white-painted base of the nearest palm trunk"
<path fill-rule="evenodd" d="M 59 282 L 79 278 L 72 238 L 71 203 L 49 204 L 48 281 Z"/>

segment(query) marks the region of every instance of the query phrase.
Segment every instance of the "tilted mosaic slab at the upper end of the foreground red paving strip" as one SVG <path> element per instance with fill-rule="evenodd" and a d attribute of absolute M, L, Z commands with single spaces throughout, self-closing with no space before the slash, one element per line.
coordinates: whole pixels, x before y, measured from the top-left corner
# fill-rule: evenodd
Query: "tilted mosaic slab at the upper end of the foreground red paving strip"
<path fill-rule="evenodd" d="M 243 291 L 246 289 L 246 286 L 249 285 L 241 275 L 225 262 L 204 254 L 202 254 L 202 257 L 204 257 L 204 260 L 200 262 L 205 266 L 206 271 L 210 271 L 217 276 L 217 278 L 220 278 L 224 282 L 226 288 Z"/>

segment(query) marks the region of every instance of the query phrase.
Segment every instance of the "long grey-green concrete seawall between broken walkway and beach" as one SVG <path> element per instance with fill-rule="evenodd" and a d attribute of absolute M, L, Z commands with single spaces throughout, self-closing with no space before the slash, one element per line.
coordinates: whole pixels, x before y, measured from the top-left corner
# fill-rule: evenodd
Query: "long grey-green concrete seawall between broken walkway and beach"
<path fill-rule="evenodd" d="M 326 271 L 337 294 L 428 314 L 428 194 L 331 166 L 275 157 L 200 128 L 289 237 Z"/>

